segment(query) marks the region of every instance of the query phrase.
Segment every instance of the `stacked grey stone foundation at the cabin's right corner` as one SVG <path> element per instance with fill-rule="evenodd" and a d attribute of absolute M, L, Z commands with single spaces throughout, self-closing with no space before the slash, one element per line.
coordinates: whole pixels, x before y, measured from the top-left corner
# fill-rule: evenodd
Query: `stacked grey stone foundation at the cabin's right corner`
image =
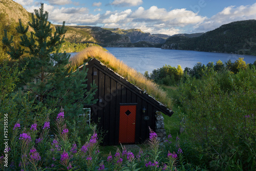
<path fill-rule="evenodd" d="M 156 112 L 156 134 L 157 138 L 160 142 L 164 142 L 166 139 L 166 131 L 164 129 L 164 123 L 163 123 L 163 115 L 161 112 Z"/>

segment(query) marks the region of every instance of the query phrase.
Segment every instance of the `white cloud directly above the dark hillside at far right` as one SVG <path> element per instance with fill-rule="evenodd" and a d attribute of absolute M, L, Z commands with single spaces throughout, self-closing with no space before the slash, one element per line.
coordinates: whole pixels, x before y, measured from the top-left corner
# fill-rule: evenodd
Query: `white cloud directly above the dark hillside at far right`
<path fill-rule="evenodd" d="M 221 12 L 205 20 L 197 26 L 197 31 L 214 30 L 221 25 L 228 24 L 237 20 L 256 19 L 256 3 L 247 6 L 229 6 Z"/>

